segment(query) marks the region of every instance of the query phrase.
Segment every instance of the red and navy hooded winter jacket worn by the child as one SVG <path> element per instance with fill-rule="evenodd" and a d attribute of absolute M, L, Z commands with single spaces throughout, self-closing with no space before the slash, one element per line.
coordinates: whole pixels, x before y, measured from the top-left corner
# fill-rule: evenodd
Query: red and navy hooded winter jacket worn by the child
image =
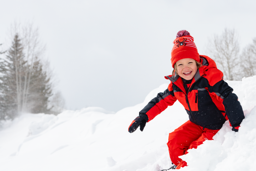
<path fill-rule="evenodd" d="M 149 122 L 178 100 L 189 120 L 203 128 L 221 129 L 226 120 L 233 129 L 238 128 L 244 114 L 237 95 L 232 93 L 233 89 L 223 80 L 223 73 L 211 58 L 200 55 L 200 61 L 202 67 L 198 68 L 187 93 L 179 75 L 166 76 L 171 81 L 168 88 L 152 99 L 139 116 L 147 116 Z"/>

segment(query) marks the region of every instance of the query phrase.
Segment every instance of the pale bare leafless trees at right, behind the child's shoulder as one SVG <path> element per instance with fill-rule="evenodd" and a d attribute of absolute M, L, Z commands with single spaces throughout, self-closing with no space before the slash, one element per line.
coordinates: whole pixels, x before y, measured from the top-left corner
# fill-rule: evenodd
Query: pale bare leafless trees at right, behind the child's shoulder
<path fill-rule="evenodd" d="M 240 50 L 239 35 L 225 28 L 220 35 L 209 38 L 207 54 L 224 74 L 224 80 L 241 80 L 256 75 L 256 38 Z"/>

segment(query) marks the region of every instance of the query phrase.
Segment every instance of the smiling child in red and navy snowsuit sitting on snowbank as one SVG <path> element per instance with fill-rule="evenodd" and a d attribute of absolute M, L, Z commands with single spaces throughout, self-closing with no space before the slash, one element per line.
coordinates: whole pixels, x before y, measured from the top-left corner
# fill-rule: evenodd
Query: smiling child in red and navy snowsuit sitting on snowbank
<path fill-rule="evenodd" d="M 172 75 L 165 77 L 171 83 L 139 112 L 129 132 L 139 126 L 143 131 L 146 122 L 178 100 L 185 107 L 189 120 L 169 134 L 167 145 L 174 164 L 170 169 L 180 169 L 187 163 L 179 156 L 205 140 L 212 140 L 226 120 L 237 132 L 244 114 L 237 95 L 223 81 L 223 73 L 211 58 L 198 54 L 189 32 L 179 31 L 173 44 L 171 63 L 174 70 Z"/>

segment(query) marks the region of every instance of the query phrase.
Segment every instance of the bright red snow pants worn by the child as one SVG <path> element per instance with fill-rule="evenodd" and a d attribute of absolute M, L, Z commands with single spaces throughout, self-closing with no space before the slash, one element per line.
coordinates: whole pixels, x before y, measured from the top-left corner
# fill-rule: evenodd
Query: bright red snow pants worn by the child
<path fill-rule="evenodd" d="M 179 156 L 187 154 L 188 149 L 197 148 L 205 140 L 212 140 L 218 130 L 203 128 L 188 120 L 182 126 L 169 133 L 167 146 L 171 161 L 177 166 L 176 169 L 187 166 L 187 162 L 180 159 Z"/>

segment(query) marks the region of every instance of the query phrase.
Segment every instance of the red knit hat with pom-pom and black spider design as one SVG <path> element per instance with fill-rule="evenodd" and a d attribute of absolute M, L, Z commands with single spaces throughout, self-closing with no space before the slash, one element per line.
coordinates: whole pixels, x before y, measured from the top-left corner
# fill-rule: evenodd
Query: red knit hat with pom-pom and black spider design
<path fill-rule="evenodd" d="M 177 33 L 176 39 L 173 41 L 173 48 L 171 52 L 172 68 L 174 64 L 184 58 L 192 58 L 200 62 L 199 53 L 197 52 L 194 38 L 187 30 L 181 30 Z"/>

